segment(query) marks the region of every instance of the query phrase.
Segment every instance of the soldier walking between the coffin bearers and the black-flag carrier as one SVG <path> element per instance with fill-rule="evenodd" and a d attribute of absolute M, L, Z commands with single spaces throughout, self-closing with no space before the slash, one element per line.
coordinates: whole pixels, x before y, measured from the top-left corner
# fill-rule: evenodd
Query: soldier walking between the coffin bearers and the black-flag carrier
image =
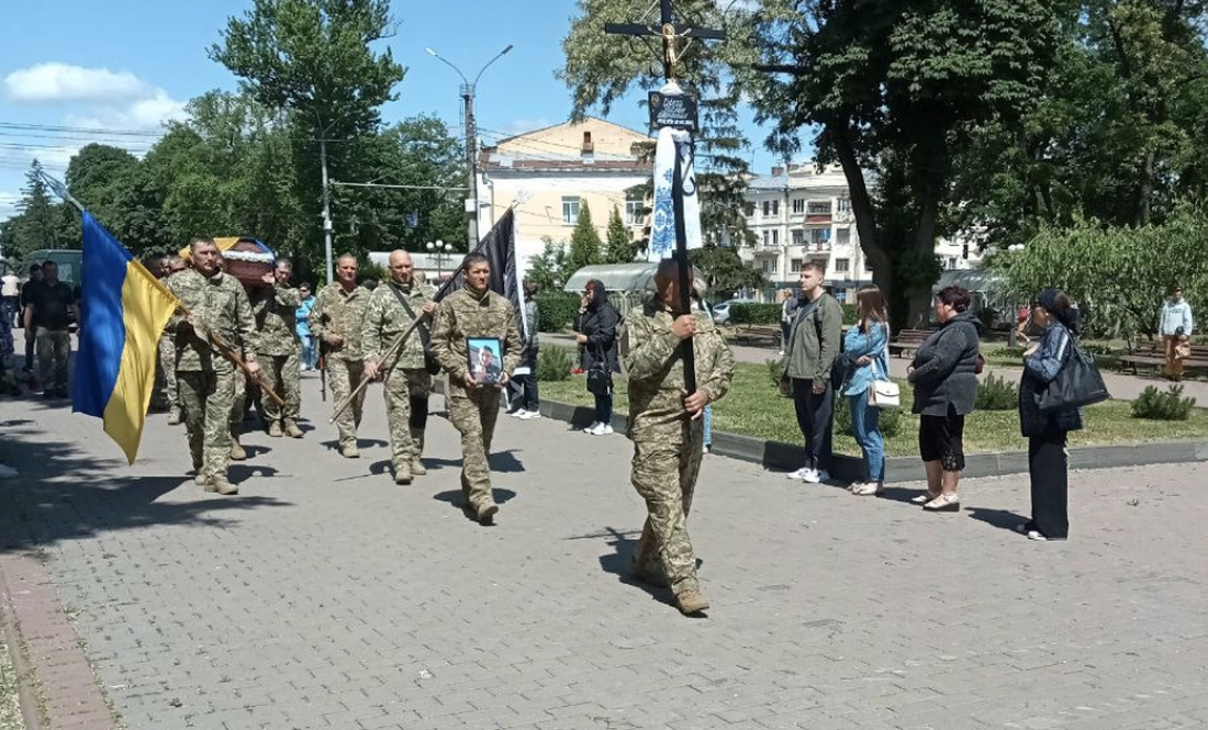
<path fill-rule="evenodd" d="M 356 285 L 356 258 L 349 255 L 336 262 L 336 281 L 324 287 L 310 309 L 310 334 L 323 352 L 323 367 L 331 397 L 342 403 L 365 376 L 361 357 L 361 328 L 370 292 Z M 365 389 L 336 419 L 339 431 L 339 452 L 345 459 L 356 459 L 356 428 L 361 425 L 365 405 Z"/>

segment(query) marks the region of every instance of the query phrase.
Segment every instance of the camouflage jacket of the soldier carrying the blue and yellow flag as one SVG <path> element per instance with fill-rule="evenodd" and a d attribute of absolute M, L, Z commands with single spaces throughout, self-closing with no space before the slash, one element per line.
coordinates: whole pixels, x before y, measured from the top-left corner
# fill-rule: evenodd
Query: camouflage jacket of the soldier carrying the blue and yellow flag
<path fill-rule="evenodd" d="M 248 292 L 233 276 L 221 271 L 207 279 L 194 269 L 173 274 L 167 280 L 168 291 L 176 294 L 193 317 L 243 355 L 246 361 L 256 356 L 256 322 L 251 316 Z M 198 372 L 226 369 L 230 361 L 188 327 L 180 327 L 182 313 L 168 322 L 167 329 L 174 334 L 176 369 Z"/>

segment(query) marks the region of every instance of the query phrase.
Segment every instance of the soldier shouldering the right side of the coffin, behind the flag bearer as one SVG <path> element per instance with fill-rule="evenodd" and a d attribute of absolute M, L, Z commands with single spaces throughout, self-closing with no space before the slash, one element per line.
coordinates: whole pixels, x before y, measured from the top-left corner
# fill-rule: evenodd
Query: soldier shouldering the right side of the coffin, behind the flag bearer
<path fill-rule="evenodd" d="M 265 274 L 269 285 L 252 292 L 251 313 L 256 317 L 259 360 L 267 375 L 266 385 L 285 401 L 285 407 L 272 397 L 262 397 L 268 436 L 302 438 L 297 419 L 302 410 L 302 370 L 298 356 L 302 345 L 294 327 L 294 314 L 302 304 L 302 294 L 290 286 L 294 264 L 278 258 L 272 274 Z"/>

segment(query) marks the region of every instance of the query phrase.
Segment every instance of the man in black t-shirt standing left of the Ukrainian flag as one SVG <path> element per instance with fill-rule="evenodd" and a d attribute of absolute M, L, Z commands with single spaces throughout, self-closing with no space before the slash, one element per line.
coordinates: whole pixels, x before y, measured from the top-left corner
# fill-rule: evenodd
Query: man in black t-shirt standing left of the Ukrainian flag
<path fill-rule="evenodd" d="M 37 364 L 42 376 L 42 396 L 68 397 L 68 357 L 71 352 L 71 331 L 68 315 L 80 321 L 80 292 L 65 281 L 59 281 L 59 264 L 42 263 L 42 282 L 25 308 L 25 335 L 36 333 Z"/>

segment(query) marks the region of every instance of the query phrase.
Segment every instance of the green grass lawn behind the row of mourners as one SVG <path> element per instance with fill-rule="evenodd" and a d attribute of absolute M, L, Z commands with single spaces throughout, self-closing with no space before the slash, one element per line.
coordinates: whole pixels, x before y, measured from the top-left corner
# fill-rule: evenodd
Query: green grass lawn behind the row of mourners
<path fill-rule="evenodd" d="M 902 403 L 910 410 L 910 386 L 902 381 Z M 541 397 L 562 403 L 591 405 L 583 375 L 569 380 L 541 381 Z M 623 379 L 616 379 L 616 411 L 627 413 L 629 405 Z M 1133 419 L 1131 404 L 1109 401 L 1086 411 L 1086 428 L 1070 434 L 1070 445 L 1107 445 L 1137 442 L 1157 442 L 1203 438 L 1208 439 L 1208 410 L 1192 409 L 1186 421 L 1145 421 Z M 739 363 L 730 393 L 713 408 L 716 431 L 795 444 L 801 442 L 792 401 L 782 397 L 772 385 L 767 366 Z M 899 432 L 885 439 L 890 456 L 917 456 L 918 416 L 901 414 Z M 836 430 L 835 450 L 859 455 L 860 449 L 847 433 Z M 1020 419 L 1012 410 L 978 410 L 965 421 L 965 450 L 969 454 L 1024 451 L 1027 439 L 1020 436 Z"/>

